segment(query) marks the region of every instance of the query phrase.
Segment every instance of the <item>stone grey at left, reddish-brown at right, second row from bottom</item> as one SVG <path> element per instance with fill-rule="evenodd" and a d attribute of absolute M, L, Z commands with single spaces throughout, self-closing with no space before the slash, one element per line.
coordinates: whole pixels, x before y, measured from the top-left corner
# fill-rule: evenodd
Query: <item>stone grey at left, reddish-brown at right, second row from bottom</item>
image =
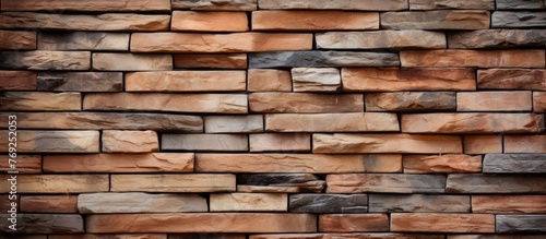
<path fill-rule="evenodd" d="M 468 213 L 468 195 L 369 194 L 370 213 Z"/>

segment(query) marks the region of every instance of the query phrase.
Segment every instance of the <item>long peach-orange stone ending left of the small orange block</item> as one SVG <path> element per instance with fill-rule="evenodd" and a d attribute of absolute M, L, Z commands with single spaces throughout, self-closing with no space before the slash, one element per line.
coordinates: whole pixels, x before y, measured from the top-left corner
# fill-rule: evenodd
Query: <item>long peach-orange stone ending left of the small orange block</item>
<path fill-rule="evenodd" d="M 127 92 L 244 92 L 245 71 L 161 71 L 126 73 Z"/>

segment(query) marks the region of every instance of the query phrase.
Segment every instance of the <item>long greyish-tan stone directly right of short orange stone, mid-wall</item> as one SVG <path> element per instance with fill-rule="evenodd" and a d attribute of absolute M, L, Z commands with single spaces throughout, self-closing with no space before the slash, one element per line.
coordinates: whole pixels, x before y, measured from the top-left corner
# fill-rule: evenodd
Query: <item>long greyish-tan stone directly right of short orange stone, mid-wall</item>
<path fill-rule="evenodd" d="M 246 134 L 162 134 L 161 141 L 167 151 L 248 151 Z"/>

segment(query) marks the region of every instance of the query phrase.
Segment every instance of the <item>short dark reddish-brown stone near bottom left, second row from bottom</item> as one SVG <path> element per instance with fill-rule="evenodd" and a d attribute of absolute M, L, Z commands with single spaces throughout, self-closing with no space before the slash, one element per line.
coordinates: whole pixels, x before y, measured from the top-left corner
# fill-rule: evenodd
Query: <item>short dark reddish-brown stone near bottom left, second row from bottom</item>
<path fill-rule="evenodd" d="M 78 213 L 76 195 L 22 195 L 23 213 Z"/>

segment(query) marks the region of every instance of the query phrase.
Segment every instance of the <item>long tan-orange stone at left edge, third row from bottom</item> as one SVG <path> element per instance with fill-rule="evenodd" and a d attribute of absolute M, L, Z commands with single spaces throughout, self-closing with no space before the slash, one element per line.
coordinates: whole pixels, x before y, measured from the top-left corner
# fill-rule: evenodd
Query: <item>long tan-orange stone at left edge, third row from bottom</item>
<path fill-rule="evenodd" d="M 7 181 L 12 175 L 2 175 Z M 108 175 L 17 175 L 17 193 L 83 193 L 107 192 Z M 0 192 L 10 192 L 8 183 Z"/>

